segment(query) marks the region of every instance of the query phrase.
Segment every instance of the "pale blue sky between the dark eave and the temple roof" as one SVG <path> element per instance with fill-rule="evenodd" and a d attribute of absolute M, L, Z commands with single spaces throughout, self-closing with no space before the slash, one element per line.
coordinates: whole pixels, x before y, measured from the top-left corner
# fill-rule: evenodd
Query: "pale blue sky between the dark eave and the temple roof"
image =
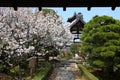
<path fill-rule="evenodd" d="M 86 7 L 67 7 L 66 11 L 63 11 L 62 7 L 51 7 L 49 9 L 55 10 L 58 15 L 62 16 L 63 23 L 65 24 L 67 23 L 67 19 L 72 17 L 75 12 L 81 12 L 85 22 L 91 20 L 95 15 L 108 15 L 120 20 L 120 7 L 116 7 L 114 11 L 111 10 L 111 7 L 92 7 L 90 11 L 88 11 Z"/>

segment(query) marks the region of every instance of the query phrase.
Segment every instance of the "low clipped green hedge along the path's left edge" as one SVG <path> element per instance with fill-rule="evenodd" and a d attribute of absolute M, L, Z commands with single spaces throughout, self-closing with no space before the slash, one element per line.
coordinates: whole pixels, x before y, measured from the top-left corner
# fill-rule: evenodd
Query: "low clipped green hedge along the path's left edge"
<path fill-rule="evenodd" d="M 33 80 L 46 80 L 49 77 L 53 69 L 52 64 L 47 65 L 44 68 L 41 68 L 40 72 L 33 77 Z"/>

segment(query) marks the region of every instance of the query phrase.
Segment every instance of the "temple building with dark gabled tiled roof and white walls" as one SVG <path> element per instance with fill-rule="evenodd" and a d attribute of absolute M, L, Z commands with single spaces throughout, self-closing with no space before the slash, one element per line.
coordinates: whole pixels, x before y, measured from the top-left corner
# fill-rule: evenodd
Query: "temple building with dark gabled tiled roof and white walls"
<path fill-rule="evenodd" d="M 70 46 L 72 43 L 80 43 L 80 36 L 82 34 L 82 29 L 84 28 L 85 21 L 83 20 L 83 15 L 81 13 L 74 13 L 74 15 L 68 18 L 67 22 L 71 23 L 69 28 L 70 32 L 74 35 L 73 40 L 68 42 L 66 46 Z"/>

